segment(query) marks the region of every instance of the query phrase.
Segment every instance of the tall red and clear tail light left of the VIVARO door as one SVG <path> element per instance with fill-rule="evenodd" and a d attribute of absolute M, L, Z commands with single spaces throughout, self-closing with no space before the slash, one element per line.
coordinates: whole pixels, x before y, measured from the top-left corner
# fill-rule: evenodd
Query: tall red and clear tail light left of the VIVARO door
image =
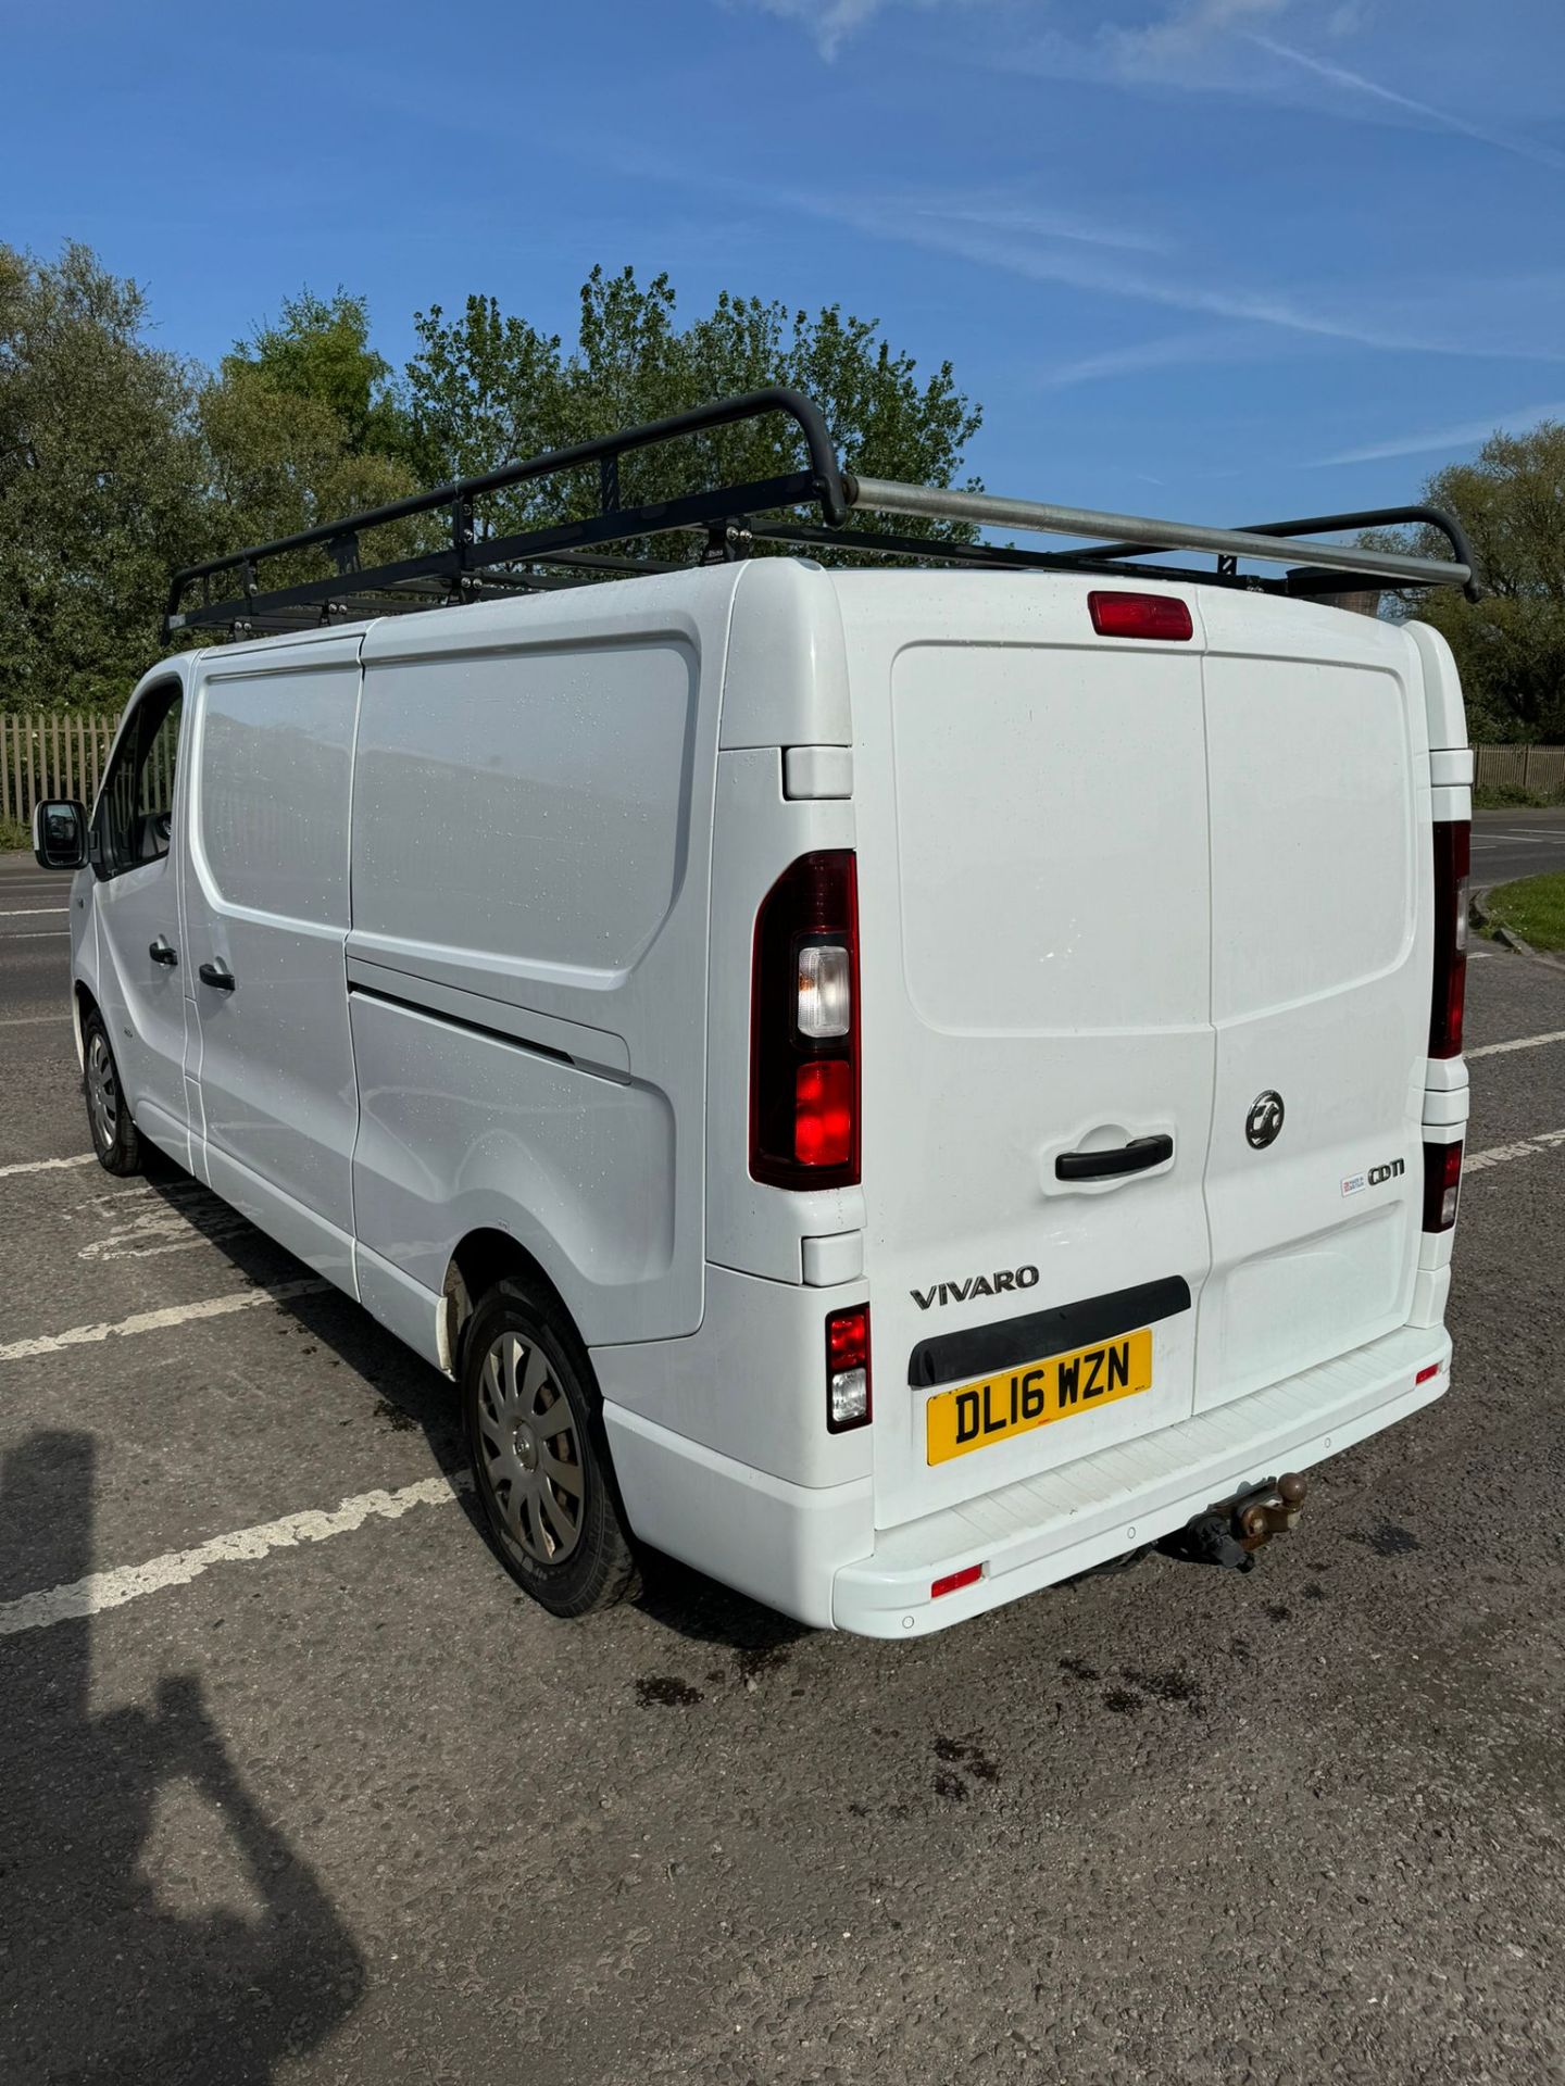
<path fill-rule="evenodd" d="M 851 849 L 799 855 L 755 916 L 749 1170 L 772 1187 L 853 1187 L 858 874 Z"/>

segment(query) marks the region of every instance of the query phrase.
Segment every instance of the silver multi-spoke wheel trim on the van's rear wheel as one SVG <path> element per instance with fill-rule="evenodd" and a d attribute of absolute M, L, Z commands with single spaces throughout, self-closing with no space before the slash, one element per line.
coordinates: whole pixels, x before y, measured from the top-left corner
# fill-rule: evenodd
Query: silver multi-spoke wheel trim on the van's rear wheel
<path fill-rule="evenodd" d="M 478 1437 L 505 1542 L 534 1564 L 563 1564 L 582 1539 L 582 1446 L 549 1356 L 522 1333 L 501 1333 L 484 1356 Z"/>

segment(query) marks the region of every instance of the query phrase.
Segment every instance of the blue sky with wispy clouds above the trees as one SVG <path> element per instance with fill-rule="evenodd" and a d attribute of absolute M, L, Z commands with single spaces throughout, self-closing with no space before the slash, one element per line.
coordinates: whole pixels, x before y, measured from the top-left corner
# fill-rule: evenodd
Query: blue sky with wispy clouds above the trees
<path fill-rule="evenodd" d="M 878 317 L 991 490 L 1417 496 L 1565 417 L 1559 0 L 0 0 L 0 238 L 213 361 L 303 284 L 570 332 L 595 261 Z"/>

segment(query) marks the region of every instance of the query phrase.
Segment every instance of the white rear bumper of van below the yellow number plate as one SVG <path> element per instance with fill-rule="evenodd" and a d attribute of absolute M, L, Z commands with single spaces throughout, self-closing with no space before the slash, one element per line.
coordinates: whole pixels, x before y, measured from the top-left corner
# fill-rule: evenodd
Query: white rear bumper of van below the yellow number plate
<path fill-rule="evenodd" d="M 1417 1383 L 1431 1364 L 1436 1375 Z M 866 1638 L 947 1629 L 1158 1542 L 1214 1500 L 1335 1456 L 1448 1387 L 1444 1327 L 1400 1327 L 1177 1427 L 878 1531 L 870 1556 L 837 1571 L 833 1623 Z M 972 1585 L 931 1600 L 931 1581 L 972 1564 L 983 1567 Z"/>

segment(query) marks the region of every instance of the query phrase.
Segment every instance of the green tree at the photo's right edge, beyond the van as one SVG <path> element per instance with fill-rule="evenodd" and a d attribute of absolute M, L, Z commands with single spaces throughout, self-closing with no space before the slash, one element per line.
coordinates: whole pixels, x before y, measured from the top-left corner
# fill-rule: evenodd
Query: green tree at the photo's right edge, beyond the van
<path fill-rule="evenodd" d="M 1482 601 L 1429 588 L 1396 613 L 1448 640 L 1475 738 L 1565 741 L 1565 426 L 1492 434 L 1471 463 L 1448 463 L 1423 488 L 1454 513 L 1473 544 Z M 1448 557 L 1434 530 L 1419 549 Z"/>

